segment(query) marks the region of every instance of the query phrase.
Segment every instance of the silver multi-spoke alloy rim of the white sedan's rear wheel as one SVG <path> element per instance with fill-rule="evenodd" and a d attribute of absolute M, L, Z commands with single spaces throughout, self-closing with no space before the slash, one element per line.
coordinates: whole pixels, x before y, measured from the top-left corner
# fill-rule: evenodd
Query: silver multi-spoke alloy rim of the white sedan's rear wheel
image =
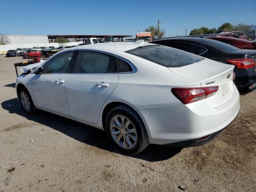
<path fill-rule="evenodd" d="M 124 149 L 133 148 L 138 140 L 134 124 L 123 115 L 116 115 L 111 119 L 110 133 L 114 141 Z"/>

